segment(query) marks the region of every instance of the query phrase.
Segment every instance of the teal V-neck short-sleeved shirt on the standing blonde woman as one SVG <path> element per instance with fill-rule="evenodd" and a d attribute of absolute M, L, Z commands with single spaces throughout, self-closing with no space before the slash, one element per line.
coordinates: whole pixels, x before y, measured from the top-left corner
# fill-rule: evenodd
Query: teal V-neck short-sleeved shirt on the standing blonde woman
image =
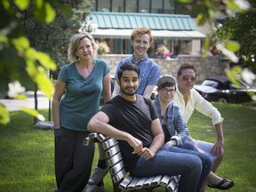
<path fill-rule="evenodd" d="M 60 124 L 75 131 L 87 132 L 89 120 L 99 111 L 103 78 L 110 68 L 105 60 L 93 60 L 92 72 L 81 76 L 76 64 L 60 70 L 59 79 L 66 83 L 66 92 L 60 100 Z"/>

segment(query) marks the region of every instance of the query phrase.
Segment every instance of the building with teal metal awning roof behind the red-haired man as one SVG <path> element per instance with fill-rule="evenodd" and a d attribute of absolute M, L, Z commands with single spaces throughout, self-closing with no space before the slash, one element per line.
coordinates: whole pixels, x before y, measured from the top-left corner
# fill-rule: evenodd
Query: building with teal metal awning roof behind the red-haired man
<path fill-rule="evenodd" d="M 156 48 L 164 44 L 171 56 L 200 54 L 204 34 L 199 32 L 190 15 L 174 14 L 170 0 L 95 0 L 93 12 L 84 21 L 83 29 L 100 41 L 106 41 L 113 54 L 131 54 L 132 28 L 152 30 L 154 45 L 149 57 L 156 57 Z"/>

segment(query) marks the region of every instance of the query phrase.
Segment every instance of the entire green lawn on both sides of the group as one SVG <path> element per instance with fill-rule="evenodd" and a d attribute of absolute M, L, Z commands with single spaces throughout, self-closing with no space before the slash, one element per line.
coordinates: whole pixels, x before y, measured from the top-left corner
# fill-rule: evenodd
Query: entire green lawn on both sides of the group
<path fill-rule="evenodd" d="M 235 181 L 228 191 L 256 191 L 256 110 L 241 105 L 213 103 L 225 118 L 225 156 L 217 174 Z M 48 110 L 41 110 L 47 116 Z M 36 130 L 33 118 L 21 111 L 11 112 L 12 123 L 0 125 L 0 192 L 52 191 L 54 177 L 54 143 L 52 130 Z M 214 127 L 209 118 L 196 113 L 188 123 L 191 135 L 214 142 Z M 97 150 L 93 167 L 97 163 Z M 106 191 L 112 191 L 108 176 Z M 207 192 L 214 192 L 212 188 Z"/>

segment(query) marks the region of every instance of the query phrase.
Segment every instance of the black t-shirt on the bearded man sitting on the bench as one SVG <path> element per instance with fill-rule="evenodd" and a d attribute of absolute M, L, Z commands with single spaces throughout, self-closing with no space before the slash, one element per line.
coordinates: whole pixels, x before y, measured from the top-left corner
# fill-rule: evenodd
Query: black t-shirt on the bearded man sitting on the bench
<path fill-rule="evenodd" d="M 156 108 L 151 100 L 141 95 L 136 95 L 136 98 L 135 101 L 129 101 L 117 95 L 109 100 L 100 111 L 108 116 L 108 124 L 118 130 L 130 133 L 142 141 L 143 147 L 149 148 L 153 140 L 151 123 L 158 118 Z M 118 141 L 124 157 L 124 165 L 127 171 L 131 171 L 140 156 L 132 155 L 133 148 L 128 142 Z"/>

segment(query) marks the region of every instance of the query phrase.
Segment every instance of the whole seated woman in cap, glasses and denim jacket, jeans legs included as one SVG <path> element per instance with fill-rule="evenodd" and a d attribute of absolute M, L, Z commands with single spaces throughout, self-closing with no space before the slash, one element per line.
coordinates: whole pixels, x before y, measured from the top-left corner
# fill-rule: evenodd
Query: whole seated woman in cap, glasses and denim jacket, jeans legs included
<path fill-rule="evenodd" d="M 212 169 L 210 167 L 212 159 L 198 152 L 193 143 L 188 141 L 187 124 L 180 113 L 180 108 L 172 102 L 175 90 L 176 81 L 173 76 L 160 76 L 157 81 L 158 95 L 154 100 L 154 105 L 164 132 L 164 150 L 177 154 L 191 154 L 200 158 L 203 168 L 196 189 L 196 191 L 200 191 L 209 170 Z"/>

